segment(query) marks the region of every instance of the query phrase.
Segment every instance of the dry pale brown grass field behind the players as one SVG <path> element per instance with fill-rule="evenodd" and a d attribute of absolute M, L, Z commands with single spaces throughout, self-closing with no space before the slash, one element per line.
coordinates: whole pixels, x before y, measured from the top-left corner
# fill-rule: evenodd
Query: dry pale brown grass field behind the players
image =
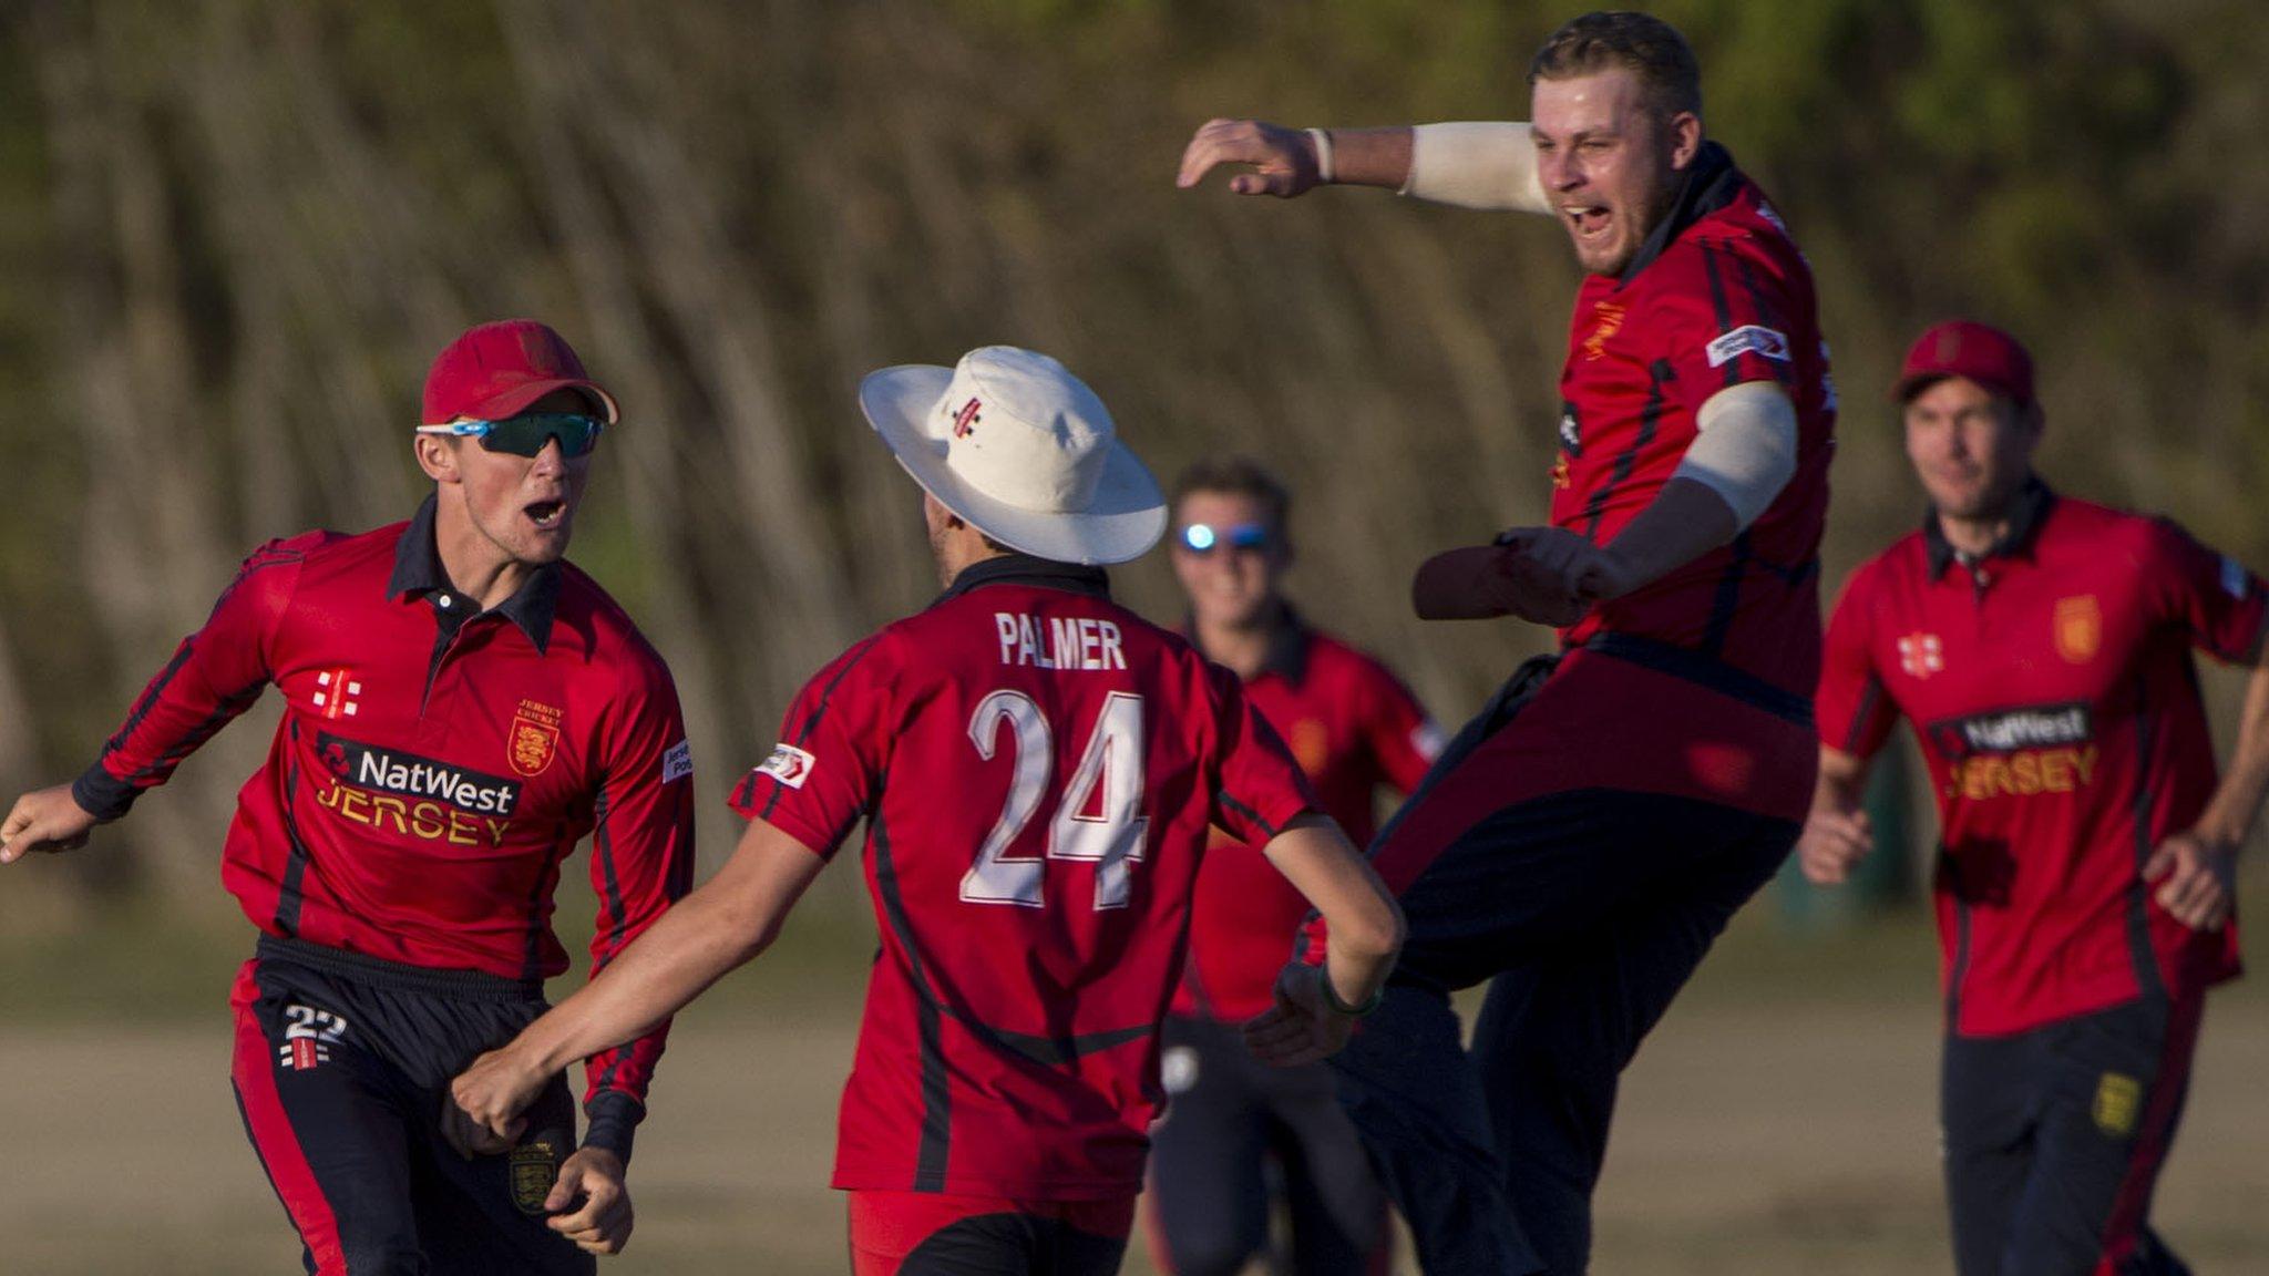
<path fill-rule="evenodd" d="M 853 1019 L 844 981 L 812 972 L 842 972 L 846 947 L 744 972 L 678 1019 L 633 1172 L 638 1237 L 604 1271 L 844 1269 L 824 1181 Z M 222 988 L 204 1004 L 104 1022 L 84 1001 L 23 1015 L 0 999 L 0 1271 L 297 1271 L 229 1101 Z M 2205 1274 L 2269 1269 L 2264 1008 L 2244 983 L 2217 994 L 2160 1192 L 2162 1228 Z M 1799 945 L 1747 920 L 1627 1078 L 1595 1269 L 1949 1269 L 1933 1078 L 1920 929 Z"/>

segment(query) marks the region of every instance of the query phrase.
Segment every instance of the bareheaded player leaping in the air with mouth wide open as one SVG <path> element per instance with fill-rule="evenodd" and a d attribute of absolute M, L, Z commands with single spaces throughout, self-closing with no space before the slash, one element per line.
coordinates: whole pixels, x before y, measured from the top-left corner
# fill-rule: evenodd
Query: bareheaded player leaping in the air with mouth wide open
<path fill-rule="evenodd" d="M 1702 134 L 1693 50 L 1645 14 L 1566 23 L 1529 125 L 1214 120 L 1180 184 L 1391 186 L 1552 213 L 1588 277 L 1547 527 L 1420 568 L 1429 618 L 1561 629 L 1373 845 L 1411 940 L 1334 1067 L 1427 1271 L 1577 1274 L 1616 1081 L 1813 788 L 1817 547 L 1836 420 L 1811 270 Z M 1448 992 L 1491 983 L 1459 1044 Z"/>

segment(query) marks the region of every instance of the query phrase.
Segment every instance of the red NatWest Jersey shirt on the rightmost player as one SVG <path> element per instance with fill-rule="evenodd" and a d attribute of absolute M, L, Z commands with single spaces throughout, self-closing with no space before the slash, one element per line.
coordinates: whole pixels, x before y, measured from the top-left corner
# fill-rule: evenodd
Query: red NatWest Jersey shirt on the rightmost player
<path fill-rule="evenodd" d="M 1870 756 L 1915 722 L 1951 1031 L 2022 1033 L 2237 974 L 2237 924 L 2183 926 L 2142 865 L 2215 792 L 2190 647 L 2249 658 L 2262 597 L 2176 524 L 2038 484 L 1983 561 L 1956 561 L 1933 518 L 1852 574 L 1820 738 Z"/>

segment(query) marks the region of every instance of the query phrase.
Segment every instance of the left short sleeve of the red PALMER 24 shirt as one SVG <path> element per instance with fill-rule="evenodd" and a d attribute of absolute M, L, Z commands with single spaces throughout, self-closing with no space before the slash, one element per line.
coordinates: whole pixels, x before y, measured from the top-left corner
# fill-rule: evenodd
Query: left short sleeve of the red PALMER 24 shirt
<path fill-rule="evenodd" d="M 812 854 L 835 847 L 867 815 L 889 763 L 892 731 L 883 636 L 819 670 L 781 720 L 781 742 L 733 788 L 733 811 L 765 820 Z"/>

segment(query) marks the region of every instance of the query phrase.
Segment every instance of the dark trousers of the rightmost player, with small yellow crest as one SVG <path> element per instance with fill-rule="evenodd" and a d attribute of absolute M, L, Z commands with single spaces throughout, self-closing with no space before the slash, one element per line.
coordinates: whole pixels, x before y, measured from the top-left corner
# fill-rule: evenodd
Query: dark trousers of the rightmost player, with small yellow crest
<path fill-rule="evenodd" d="M 2201 992 L 2008 1038 L 1949 1035 L 1940 1081 L 1960 1276 L 2187 1276 L 2151 1231 Z"/>

